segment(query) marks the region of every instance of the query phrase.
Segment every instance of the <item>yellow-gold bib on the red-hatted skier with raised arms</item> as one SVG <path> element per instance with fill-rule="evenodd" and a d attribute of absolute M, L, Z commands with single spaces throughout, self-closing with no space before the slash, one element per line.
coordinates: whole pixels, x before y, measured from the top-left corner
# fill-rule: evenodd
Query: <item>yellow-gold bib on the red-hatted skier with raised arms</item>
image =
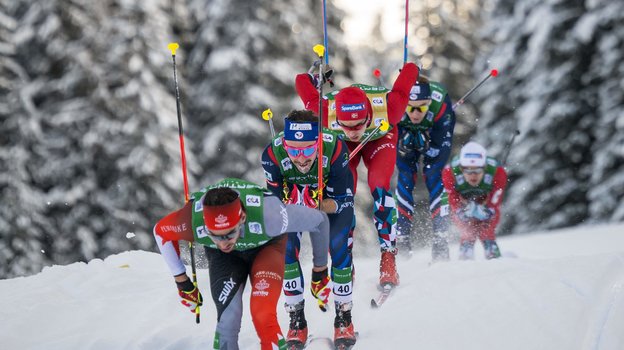
<path fill-rule="evenodd" d="M 390 125 L 390 121 L 388 120 L 388 104 L 386 101 L 386 94 L 390 90 L 386 89 L 383 86 L 371 86 L 371 85 L 364 85 L 364 84 L 353 84 L 351 86 L 355 86 L 364 90 L 364 92 L 366 93 L 366 97 L 368 97 L 368 100 L 371 106 L 373 107 L 373 121 L 366 128 L 366 131 L 364 131 L 364 134 L 362 135 L 362 138 L 361 138 L 363 140 L 366 137 L 368 137 L 368 135 L 370 135 L 375 130 L 376 127 L 381 125 L 382 121 L 386 121 L 386 123 Z M 325 97 L 327 97 L 328 102 L 329 102 L 329 108 L 328 108 L 329 113 L 327 115 L 327 125 L 329 126 L 329 129 L 331 131 L 337 133 L 346 141 L 348 141 L 349 139 L 346 137 L 344 131 L 342 131 L 342 129 L 340 128 L 340 125 L 338 125 L 338 121 L 336 120 L 336 95 L 339 92 L 340 92 L 339 90 L 332 91 L 329 94 L 325 95 Z M 380 139 L 385 134 L 387 134 L 391 129 L 392 129 L 392 125 L 390 125 L 390 127 L 386 131 L 381 131 L 381 130 L 377 131 L 377 134 L 371 138 L 371 141 Z"/>

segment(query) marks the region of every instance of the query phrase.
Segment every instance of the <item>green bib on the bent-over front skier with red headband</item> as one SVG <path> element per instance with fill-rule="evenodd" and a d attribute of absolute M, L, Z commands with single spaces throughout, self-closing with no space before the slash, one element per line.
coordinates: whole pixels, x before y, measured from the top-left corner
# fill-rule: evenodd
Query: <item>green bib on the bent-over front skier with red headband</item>
<path fill-rule="evenodd" d="M 265 233 L 263 203 L 264 194 L 270 194 L 270 192 L 254 183 L 233 178 L 221 180 L 212 186 L 191 194 L 191 200 L 194 204 L 191 227 L 195 242 L 218 249 L 217 245 L 208 236 L 202 205 L 206 192 L 217 187 L 229 187 L 238 192 L 247 214 L 245 231 L 241 233 L 234 249 L 239 251 L 253 249 L 267 243 L 271 237 Z"/>

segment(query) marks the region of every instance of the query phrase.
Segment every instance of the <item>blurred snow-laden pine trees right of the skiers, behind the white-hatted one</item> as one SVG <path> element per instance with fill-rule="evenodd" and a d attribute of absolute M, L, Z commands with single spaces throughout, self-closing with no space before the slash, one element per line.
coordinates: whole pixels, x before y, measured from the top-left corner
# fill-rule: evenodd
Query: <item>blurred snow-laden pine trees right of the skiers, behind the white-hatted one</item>
<path fill-rule="evenodd" d="M 500 67 L 477 139 L 500 157 L 513 131 L 503 232 L 624 219 L 624 3 L 493 1 L 482 32 Z"/>

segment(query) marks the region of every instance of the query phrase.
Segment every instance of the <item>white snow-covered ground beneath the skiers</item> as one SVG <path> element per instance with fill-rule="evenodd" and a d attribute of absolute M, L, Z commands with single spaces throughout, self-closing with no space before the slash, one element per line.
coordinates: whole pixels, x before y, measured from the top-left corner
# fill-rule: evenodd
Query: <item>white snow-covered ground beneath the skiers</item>
<path fill-rule="evenodd" d="M 378 256 L 356 256 L 356 348 L 624 349 L 624 225 L 518 235 L 499 244 L 505 258 L 496 261 L 483 260 L 480 248 L 476 261 L 457 261 L 455 254 L 429 266 L 427 250 L 400 260 L 401 286 L 378 310 L 370 308 Z M 209 299 L 207 271 L 198 279 Z M 306 298 L 310 332 L 332 336 L 333 312 L 317 310 L 309 292 Z M 1 280 L 0 303 L 2 349 L 212 348 L 212 303 L 195 324 L 155 253 L 126 252 Z M 278 315 L 285 329 L 281 303 Z M 257 349 L 248 310 L 244 317 L 241 349 Z"/>

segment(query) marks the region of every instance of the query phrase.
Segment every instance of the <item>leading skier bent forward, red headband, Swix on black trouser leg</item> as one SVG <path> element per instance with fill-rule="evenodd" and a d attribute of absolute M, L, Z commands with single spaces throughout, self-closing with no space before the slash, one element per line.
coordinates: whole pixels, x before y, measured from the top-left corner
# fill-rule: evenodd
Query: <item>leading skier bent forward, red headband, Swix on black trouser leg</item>
<path fill-rule="evenodd" d="M 329 219 L 324 212 L 286 205 L 268 190 L 238 179 L 193 193 L 191 199 L 158 221 L 154 237 L 178 286 L 181 302 L 192 312 L 202 296 L 186 274 L 178 241 L 205 246 L 210 290 L 217 308 L 215 349 L 238 349 L 243 290 L 249 277 L 249 308 L 263 350 L 285 349 L 277 322 L 284 277 L 284 232 L 311 233 L 313 262 L 327 268 Z"/>

